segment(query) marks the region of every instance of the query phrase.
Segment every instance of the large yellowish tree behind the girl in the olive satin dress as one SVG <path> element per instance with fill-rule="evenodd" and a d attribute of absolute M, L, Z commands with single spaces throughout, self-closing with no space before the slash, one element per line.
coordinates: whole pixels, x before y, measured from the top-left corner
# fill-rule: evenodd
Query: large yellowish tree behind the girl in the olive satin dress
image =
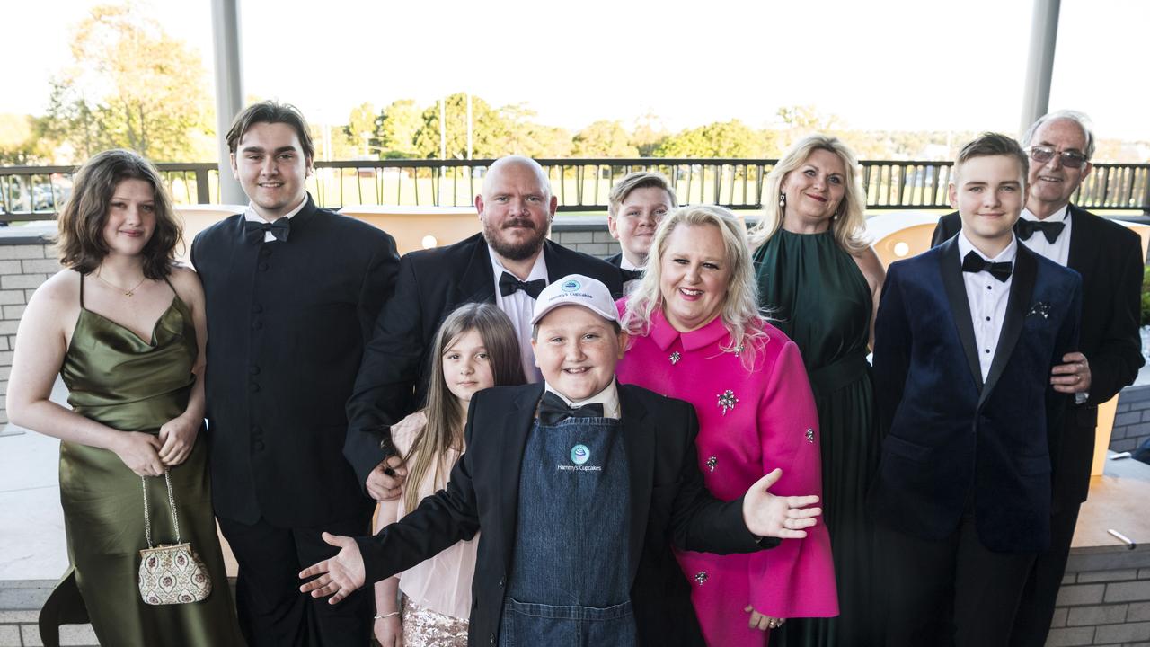
<path fill-rule="evenodd" d="M 46 136 L 87 158 L 113 146 L 155 161 L 214 154 L 202 62 L 135 3 L 93 7 L 74 64 L 53 81 Z"/>

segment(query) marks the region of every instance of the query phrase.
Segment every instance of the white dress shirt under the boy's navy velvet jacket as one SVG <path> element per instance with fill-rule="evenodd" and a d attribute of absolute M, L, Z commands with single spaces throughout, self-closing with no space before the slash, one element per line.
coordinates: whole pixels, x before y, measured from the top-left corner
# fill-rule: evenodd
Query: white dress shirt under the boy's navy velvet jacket
<path fill-rule="evenodd" d="M 987 259 L 982 252 L 974 249 L 971 241 L 966 238 L 966 234 L 959 231 L 959 262 L 972 251 L 990 262 L 1013 265 L 1014 257 L 1018 254 L 1018 238 L 1012 234 L 1006 249 L 998 252 L 995 258 Z M 982 371 L 983 382 L 990 374 L 990 364 L 995 360 L 995 352 L 998 350 L 998 335 L 1002 333 L 1003 320 L 1006 318 L 1006 302 L 1010 297 L 1012 281 L 1014 281 L 1013 274 L 1003 282 L 991 276 L 989 272 L 963 272 L 966 303 L 971 306 L 971 322 L 974 325 L 974 343 L 977 345 L 979 368 Z"/>

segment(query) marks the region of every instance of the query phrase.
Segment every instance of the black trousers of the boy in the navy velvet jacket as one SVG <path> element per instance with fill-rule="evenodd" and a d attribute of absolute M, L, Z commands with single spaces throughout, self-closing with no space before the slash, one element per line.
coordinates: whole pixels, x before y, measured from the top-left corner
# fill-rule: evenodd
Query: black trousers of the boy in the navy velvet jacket
<path fill-rule="evenodd" d="M 876 524 L 887 647 L 1005 646 L 1034 553 L 982 546 L 974 517 L 930 541 Z"/>

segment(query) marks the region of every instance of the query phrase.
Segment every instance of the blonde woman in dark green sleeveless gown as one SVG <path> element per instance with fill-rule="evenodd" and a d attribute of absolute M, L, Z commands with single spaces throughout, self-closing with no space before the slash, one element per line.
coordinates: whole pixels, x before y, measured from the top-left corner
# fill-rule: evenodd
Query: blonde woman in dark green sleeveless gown
<path fill-rule="evenodd" d="M 787 622 L 774 645 L 867 646 L 881 635 L 864 503 L 880 450 L 866 357 L 884 272 L 862 239 L 857 168 L 838 139 L 799 140 L 767 177 L 769 199 L 750 233 L 760 305 L 798 344 L 814 391 L 839 608 L 837 618 Z"/>

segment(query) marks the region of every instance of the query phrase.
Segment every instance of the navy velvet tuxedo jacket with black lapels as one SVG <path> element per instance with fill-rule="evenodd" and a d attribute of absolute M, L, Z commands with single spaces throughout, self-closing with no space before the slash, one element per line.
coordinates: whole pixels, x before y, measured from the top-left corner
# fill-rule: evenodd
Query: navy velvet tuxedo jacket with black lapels
<path fill-rule="evenodd" d="M 957 239 L 890 266 L 875 319 L 877 520 L 941 540 L 973 512 L 990 550 L 1046 548 L 1050 432 L 1068 399 L 1049 375 L 1078 343 L 1080 294 L 1078 273 L 1018 245 L 983 383 Z"/>

